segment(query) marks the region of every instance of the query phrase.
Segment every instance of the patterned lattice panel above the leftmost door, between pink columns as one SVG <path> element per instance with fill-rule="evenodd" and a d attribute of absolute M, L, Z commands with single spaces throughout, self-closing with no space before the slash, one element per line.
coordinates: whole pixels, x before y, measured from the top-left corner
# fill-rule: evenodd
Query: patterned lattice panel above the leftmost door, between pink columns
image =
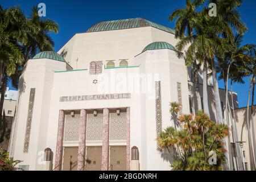
<path fill-rule="evenodd" d="M 75 114 L 74 117 L 70 114 L 65 115 L 64 141 L 79 140 L 79 119 L 80 114 Z"/>

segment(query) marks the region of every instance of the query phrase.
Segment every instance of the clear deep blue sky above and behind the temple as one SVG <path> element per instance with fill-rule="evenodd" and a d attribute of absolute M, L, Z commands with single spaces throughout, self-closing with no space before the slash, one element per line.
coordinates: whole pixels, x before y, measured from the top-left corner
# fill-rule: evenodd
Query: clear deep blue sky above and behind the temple
<path fill-rule="evenodd" d="M 60 1 L 60 0 L 0 0 L 3 8 L 20 5 L 26 15 L 31 13 L 32 6 L 40 2 L 46 4 L 47 18 L 55 20 L 60 27 L 59 34 L 51 34 L 58 51 L 77 32 L 85 32 L 89 27 L 102 20 L 145 18 L 152 22 L 174 28 L 175 22 L 169 22 L 168 16 L 175 9 L 184 7 L 185 0 L 95 0 L 95 1 Z M 256 44 L 256 0 L 243 0 L 238 9 L 248 31 L 242 44 Z M 234 84 L 233 90 L 238 93 L 239 106 L 246 106 L 249 91 L 249 78 L 245 84 Z M 222 81 L 219 82 L 224 88 Z M 256 100 L 256 96 L 255 96 Z"/>

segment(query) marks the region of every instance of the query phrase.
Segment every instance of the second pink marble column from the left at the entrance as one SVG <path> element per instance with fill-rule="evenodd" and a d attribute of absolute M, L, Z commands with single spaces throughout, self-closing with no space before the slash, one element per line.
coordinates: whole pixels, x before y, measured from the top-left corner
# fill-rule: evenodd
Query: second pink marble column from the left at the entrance
<path fill-rule="evenodd" d="M 85 162 L 85 135 L 86 135 L 86 110 L 80 111 L 79 120 L 79 154 L 77 160 L 77 170 L 84 171 Z"/>

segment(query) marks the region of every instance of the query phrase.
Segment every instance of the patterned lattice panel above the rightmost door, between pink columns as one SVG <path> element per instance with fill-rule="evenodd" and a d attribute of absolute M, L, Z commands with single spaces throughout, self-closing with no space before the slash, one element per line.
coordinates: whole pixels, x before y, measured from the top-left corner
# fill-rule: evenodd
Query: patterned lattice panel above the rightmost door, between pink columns
<path fill-rule="evenodd" d="M 126 140 L 126 112 L 110 113 L 110 140 Z"/>

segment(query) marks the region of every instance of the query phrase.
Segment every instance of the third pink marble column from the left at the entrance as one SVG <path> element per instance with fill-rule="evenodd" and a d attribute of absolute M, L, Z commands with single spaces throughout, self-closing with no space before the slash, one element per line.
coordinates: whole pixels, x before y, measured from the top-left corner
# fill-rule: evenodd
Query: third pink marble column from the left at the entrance
<path fill-rule="evenodd" d="M 101 171 L 109 170 L 109 109 L 103 109 Z"/>

